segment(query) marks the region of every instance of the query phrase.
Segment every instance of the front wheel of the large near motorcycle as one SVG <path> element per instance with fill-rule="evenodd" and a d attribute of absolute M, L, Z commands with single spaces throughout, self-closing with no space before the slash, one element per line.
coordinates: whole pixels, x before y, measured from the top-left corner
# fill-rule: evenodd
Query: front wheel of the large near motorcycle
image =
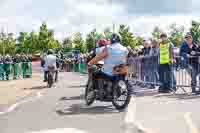
<path fill-rule="evenodd" d="M 93 87 L 92 80 L 88 80 L 86 89 L 85 89 L 85 102 L 86 105 L 91 105 L 96 99 L 96 93 Z"/>

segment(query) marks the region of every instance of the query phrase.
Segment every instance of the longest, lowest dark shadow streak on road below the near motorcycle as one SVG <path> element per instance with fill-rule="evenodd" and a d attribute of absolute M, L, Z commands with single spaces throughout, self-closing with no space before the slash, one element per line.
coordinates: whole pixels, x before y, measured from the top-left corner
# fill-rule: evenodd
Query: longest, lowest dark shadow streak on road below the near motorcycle
<path fill-rule="evenodd" d="M 58 115 L 80 115 L 80 114 L 113 114 L 119 113 L 113 106 L 86 107 L 83 104 L 72 104 L 69 108 L 57 110 Z"/>

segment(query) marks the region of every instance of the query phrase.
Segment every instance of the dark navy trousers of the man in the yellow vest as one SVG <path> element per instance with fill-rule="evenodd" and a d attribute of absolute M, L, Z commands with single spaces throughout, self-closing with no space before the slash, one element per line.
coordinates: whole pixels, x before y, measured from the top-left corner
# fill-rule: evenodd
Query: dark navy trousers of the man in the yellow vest
<path fill-rule="evenodd" d="M 161 82 L 161 89 L 170 90 L 171 68 L 170 64 L 160 64 L 159 79 Z"/>

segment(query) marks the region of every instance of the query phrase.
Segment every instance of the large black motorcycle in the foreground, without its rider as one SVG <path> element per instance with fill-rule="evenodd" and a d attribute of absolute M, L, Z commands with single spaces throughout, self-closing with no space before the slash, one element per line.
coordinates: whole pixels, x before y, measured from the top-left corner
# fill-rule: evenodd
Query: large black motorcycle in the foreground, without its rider
<path fill-rule="evenodd" d="M 126 80 L 126 75 L 116 74 L 108 78 L 96 78 L 95 73 L 101 71 L 102 65 L 89 67 L 88 82 L 85 89 L 86 105 L 91 105 L 95 100 L 112 102 L 117 110 L 125 109 L 131 99 L 131 87 Z M 116 66 L 120 68 L 121 65 Z"/>

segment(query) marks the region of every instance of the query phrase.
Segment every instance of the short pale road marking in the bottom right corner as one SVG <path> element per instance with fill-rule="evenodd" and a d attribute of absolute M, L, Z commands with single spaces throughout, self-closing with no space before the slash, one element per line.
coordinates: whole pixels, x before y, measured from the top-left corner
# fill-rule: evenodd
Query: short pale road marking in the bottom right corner
<path fill-rule="evenodd" d="M 187 123 L 187 125 L 189 126 L 190 128 L 190 133 L 200 133 L 196 127 L 196 125 L 193 123 L 192 119 L 191 119 L 191 112 L 187 112 L 185 113 L 184 115 L 184 119 Z"/>

